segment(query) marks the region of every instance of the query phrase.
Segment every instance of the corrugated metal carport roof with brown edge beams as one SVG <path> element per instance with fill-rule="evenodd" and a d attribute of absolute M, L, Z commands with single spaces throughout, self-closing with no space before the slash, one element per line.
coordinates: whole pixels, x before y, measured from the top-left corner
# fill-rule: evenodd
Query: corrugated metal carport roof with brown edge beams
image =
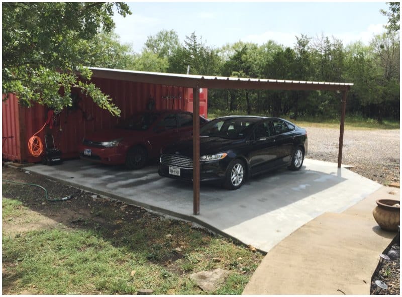
<path fill-rule="evenodd" d="M 282 90 L 349 90 L 353 83 L 296 81 L 283 79 L 239 78 L 224 76 L 176 74 L 88 67 L 92 77 L 176 85 L 183 87 L 282 89 Z"/>

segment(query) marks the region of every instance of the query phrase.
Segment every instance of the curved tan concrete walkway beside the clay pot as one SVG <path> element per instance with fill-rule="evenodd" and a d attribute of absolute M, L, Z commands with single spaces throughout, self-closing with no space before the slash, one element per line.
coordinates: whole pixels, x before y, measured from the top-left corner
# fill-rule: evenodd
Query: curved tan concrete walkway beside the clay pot
<path fill-rule="evenodd" d="M 381 187 L 344 212 L 297 229 L 268 252 L 243 294 L 368 295 L 378 254 L 396 235 L 375 222 L 375 201 L 399 197 L 399 188 Z"/>

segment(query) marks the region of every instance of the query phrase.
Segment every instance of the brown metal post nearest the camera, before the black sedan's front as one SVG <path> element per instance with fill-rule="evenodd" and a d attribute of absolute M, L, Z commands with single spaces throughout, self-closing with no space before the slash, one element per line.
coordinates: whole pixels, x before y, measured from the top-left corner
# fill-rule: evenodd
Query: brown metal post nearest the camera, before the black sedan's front
<path fill-rule="evenodd" d="M 194 215 L 199 215 L 199 87 L 192 89 L 192 180 Z"/>

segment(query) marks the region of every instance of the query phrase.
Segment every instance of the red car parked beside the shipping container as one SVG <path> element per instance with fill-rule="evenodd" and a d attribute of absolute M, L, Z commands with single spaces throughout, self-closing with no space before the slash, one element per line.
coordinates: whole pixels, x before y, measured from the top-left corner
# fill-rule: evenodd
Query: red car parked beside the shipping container
<path fill-rule="evenodd" d="M 207 122 L 199 117 L 200 126 Z M 191 135 L 192 113 L 146 111 L 132 115 L 114 129 L 86 135 L 79 145 L 79 155 L 81 159 L 140 169 L 148 160 L 159 157 L 162 146 Z"/>

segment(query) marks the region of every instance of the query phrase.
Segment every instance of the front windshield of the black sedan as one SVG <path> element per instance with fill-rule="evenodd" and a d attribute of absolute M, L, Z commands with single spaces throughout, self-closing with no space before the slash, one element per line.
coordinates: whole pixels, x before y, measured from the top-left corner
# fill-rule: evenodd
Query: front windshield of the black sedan
<path fill-rule="evenodd" d="M 199 135 L 225 139 L 242 139 L 246 137 L 254 122 L 256 122 L 256 119 L 253 118 L 216 119 L 202 127 L 199 130 Z"/>

